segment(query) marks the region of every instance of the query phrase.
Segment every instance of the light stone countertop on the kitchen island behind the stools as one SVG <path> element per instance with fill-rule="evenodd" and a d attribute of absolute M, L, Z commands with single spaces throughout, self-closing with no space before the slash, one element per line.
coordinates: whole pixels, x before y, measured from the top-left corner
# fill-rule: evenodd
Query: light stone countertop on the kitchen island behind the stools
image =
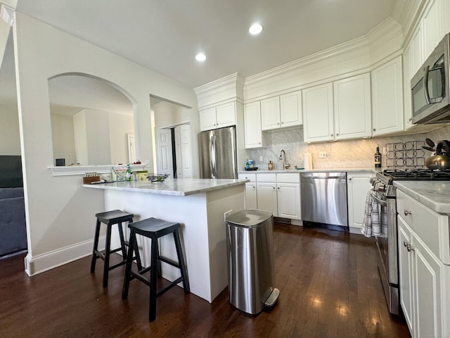
<path fill-rule="evenodd" d="M 148 194 L 164 194 L 172 196 L 188 196 L 200 192 L 233 187 L 245 184 L 248 180 L 208 180 L 198 178 L 167 179 L 165 182 L 152 183 L 148 180 L 120 181 L 98 184 L 83 184 L 93 189 L 111 189 L 127 192 L 144 192 Z"/>

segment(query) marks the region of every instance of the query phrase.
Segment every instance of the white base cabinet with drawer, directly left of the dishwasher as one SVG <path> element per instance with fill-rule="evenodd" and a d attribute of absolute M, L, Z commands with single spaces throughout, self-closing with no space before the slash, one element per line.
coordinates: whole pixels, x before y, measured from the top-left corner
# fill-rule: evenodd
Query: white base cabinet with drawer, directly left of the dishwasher
<path fill-rule="evenodd" d="M 300 220 L 300 174 L 276 174 L 278 217 Z"/>

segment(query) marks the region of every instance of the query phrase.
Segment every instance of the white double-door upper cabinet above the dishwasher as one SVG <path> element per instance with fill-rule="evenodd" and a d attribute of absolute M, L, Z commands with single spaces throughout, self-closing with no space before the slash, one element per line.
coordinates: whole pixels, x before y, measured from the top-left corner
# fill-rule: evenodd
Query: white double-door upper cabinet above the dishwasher
<path fill-rule="evenodd" d="M 371 81 L 362 74 L 303 89 L 304 142 L 371 136 Z"/>

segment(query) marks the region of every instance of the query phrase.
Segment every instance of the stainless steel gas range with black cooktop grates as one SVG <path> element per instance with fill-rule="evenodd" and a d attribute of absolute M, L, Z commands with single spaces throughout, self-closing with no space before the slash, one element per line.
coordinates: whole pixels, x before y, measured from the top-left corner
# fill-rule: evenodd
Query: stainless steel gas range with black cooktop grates
<path fill-rule="evenodd" d="M 387 237 L 377 237 L 378 272 L 390 313 L 399 314 L 399 257 L 397 245 L 397 202 L 395 180 L 450 180 L 450 170 L 387 169 L 371 179 L 380 210 L 381 225 L 387 227 Z M 387 224 L 385 224 L 387 223 Z"/>

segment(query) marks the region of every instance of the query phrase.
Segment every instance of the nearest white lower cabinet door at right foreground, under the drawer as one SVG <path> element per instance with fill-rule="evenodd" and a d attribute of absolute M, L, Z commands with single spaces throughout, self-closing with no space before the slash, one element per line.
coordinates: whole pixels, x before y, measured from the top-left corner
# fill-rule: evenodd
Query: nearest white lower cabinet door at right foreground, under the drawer
<path fill-rule="evenodd" d="M 414 296 L 416 299 L 416 337 L 445 337 L 442 318 L 442 267 L 427 246 L 412 234 L 414 251 Z M 447 336 L 448 337 L 448 336 Z"/>

